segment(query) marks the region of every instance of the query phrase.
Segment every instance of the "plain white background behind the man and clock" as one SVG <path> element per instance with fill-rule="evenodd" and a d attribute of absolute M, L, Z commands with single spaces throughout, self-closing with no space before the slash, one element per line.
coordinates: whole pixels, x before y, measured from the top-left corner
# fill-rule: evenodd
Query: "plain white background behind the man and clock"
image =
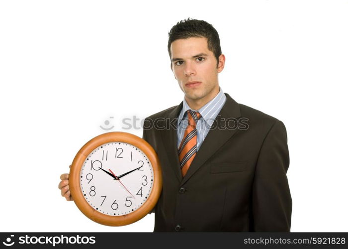
<path fill-rule="evenodd" d="M 61 197 L 90 138 L 183 99 L 168 32 L 179 20 L 218 30 L 220 86 L 284 122 L 292 232 L 347 232 L 348 0 L 32 0 L 0 3 L 0 232 L 151 232 L 87 219 Z M 114 117 L 110 119 L 109 117 Z"/>

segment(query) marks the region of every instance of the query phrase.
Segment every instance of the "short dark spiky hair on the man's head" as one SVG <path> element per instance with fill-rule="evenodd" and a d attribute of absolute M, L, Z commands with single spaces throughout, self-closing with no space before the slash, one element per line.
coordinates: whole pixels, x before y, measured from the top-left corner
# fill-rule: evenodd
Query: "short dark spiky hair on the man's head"
<path fill-rule="evenodd" d="M 171 44 L 177 39 L 187 39 L 190 37 L 205 37 L 208 42 L 208 49 L 215 55 L 219 63 L 219 56 L 221 55 L 220 38 L 216 29 L 210 23 L 203 20 L 184 19 L 178 21 L 168 33 L 168 53 L 172 58 Z"/>

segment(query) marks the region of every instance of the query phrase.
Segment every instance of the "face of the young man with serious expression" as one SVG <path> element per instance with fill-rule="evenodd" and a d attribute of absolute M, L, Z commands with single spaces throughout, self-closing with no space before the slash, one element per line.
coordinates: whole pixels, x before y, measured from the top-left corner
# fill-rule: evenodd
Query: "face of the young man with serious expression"
<path fill-rule="evenodd" d="M 186 100 L 210 100 L 219 92 L 218 73 L 222 71 L 224 59 L 217 67 L 207 38 L 190 37 L 177 39 L 171 44 L 172 71 Z M 222 65 L 221 65 L 222 64 Z"/>

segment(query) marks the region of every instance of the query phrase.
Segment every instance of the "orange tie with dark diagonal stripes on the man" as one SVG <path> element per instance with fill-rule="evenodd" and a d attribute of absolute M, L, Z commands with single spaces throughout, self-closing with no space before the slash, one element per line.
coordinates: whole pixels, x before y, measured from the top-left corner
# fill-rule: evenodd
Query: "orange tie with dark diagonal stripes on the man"
<path fill-rule="evenodd" d="M 188 124 L 178 149 L 182 177 L 185 176 L 191 162 L 193 161 L 193 158 L 197 153 L 196 122 L 200 118 L 200 113 L 187 110 Z"/>

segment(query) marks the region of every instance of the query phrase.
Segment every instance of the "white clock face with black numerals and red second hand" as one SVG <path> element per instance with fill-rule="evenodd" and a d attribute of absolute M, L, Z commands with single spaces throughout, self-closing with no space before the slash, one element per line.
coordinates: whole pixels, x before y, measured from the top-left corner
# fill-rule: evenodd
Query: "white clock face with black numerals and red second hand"
<path fill-rule="evenodd" d="M 80 172 L 81 191 L 96 211 L 122 216 L 139 209 L 149 198 L 154 171 L 138 147 L 110 142 L 95 148 Z"/>

